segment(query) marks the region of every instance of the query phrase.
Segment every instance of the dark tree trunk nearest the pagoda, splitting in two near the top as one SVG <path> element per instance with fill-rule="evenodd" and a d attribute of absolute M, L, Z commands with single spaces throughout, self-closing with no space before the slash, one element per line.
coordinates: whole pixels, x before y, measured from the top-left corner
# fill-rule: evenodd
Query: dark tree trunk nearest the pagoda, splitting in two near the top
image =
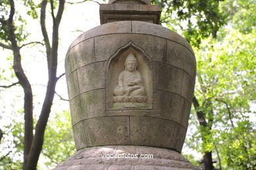
<path fill-rule="evenodd" d="M 49 119 L 49 114 L 51 112 L 51 107 L 53 105 L 53 99 L 56 87 L 56 71 L 58 65 L 58 27 L 60 25 L 60 20 L 62 18 L 64 10 L 64 0 L 59 0 L 58 12 L 56 15 L 56 20 L 53 23 L 53 43 L 52 47 L 49 43 L 49 38 L 47 35 L 47 30 L 45 27 L 45 9 L 47 5 L 47 0 L 43 0 L 41 3 L 41 29 L 43 32 L 43 37 L 45 39 L 45 45 L 47 48 L 47 66 L 48 66 L 48 83 L 47 90 L 45 94 L 45 99 L 43 101 L 43 106 L 37 125 L 35 126 L 35 135 L 33 137 L 32 147 L 30 154 L 28 155 L 28 161 L 24 167 L 24 170 L 36 169 L 37 161 L 39 159 L 40 152 L 43 147 L 43 141 L 45 136 L 45 127 Z"/>

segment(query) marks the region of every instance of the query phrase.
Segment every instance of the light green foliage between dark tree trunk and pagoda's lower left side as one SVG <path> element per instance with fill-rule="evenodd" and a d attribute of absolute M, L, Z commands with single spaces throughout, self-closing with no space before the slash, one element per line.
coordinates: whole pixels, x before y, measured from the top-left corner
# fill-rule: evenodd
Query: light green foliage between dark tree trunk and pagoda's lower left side
<path fill-rule="evenodd" d="M 66 161 L 74 153 L 75 143 L 70 112 L 56 113 L 54 118 L 49 120 L 45 130 L 42 154 L 49 159 L 45 165 L 49 168 L 56 167 L 57 163 Z"/>

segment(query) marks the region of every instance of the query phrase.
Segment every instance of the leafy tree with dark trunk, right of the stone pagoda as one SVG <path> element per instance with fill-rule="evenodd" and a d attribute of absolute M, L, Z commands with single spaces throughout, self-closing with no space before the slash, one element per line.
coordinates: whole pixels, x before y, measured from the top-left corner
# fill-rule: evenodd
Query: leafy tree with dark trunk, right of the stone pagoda
<path fill-rule="evenodd" d="M 255 40 L 251 34 L 248 34 L 252 38 L 249 42 L 249 37 L 243 37 L 243 33 L 251 33 L 255 29 L 255 2 L 156 0 L 154 3 L 163 7 L 161 24 L 182 33 L 194 48 L 198 73 L 192 100 L 192 113 L 196 116 L 191 117 L 198 120 L 191 122 L 197 122 L 194 125 L 198 131 L 192 136 L 198 138 L 191 141 L 202 142 L 196 148 L 203 153 L 205 169 L 213 169 L 212 151 L 217 152 L 218 158 L 223 155 L 219 153 L 221 149 L 217 149 L 217 143 L 223 138 L 216 135 L 216 127 L 233 131 L 224 128 L 225 125 L 236 128 L 241 123 L 246 117 L 245 112 L 250 112 L 251 95 L 255 94 L 250 81 L 255 72 L 252 66 L 255 61 L 251 59 L 255 55 L 252 48 Z M 224 29 L 226 25 L 236 31 L 230 33 Z M 231 55 L 230 51 L 234 53 Z M 223 134 L 224 131 L 219 133 Z M 231 132 L 228 134 L 232 138 Z"/>

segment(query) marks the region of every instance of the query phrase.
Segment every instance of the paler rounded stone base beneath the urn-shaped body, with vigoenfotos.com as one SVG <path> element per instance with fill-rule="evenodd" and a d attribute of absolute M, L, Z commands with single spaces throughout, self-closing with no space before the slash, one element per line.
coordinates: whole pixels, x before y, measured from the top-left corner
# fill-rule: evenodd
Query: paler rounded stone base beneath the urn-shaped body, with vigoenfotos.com
<path fill-rule="evenodd" d="M 108 155 L 109 154 L 109 155 Z M 118 158 L 109 158 L 118 156 Z M 118 155 L 117 155 L 118 154 Z M 135 158 L 140 154 L 153 158 Z M 106 157 L 104 157 L 106 156 Z M 134 157 L 134 158 L 132 158 Z M 54 170 L 103 169 L 200 169 L 192 165 L 179 152 L 148 146 L 97 146 L 77 151 L 67 161 L 58 163 Z"/>

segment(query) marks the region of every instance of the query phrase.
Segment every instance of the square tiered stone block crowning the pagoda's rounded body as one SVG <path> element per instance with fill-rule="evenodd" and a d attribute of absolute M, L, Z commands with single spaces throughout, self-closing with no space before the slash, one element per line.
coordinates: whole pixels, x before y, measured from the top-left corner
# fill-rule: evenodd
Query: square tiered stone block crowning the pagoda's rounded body
<path fill-rule="evenodd" d="M 150 0 L 109 0 L 100 4 L 100 24 L 118 21 L 160 23 L 160 5 L 150 5 Z"/>

